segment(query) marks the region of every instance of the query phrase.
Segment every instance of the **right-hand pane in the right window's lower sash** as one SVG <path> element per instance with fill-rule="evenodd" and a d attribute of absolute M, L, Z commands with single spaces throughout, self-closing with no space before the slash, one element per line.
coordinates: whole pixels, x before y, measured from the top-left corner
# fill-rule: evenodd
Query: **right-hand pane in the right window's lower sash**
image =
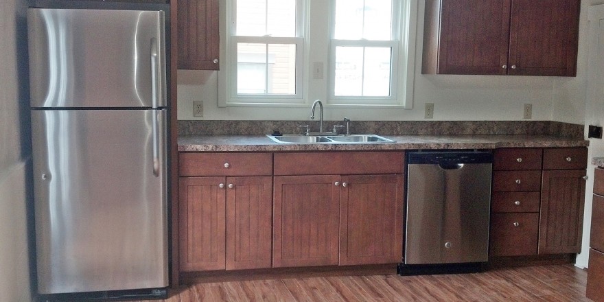
<path fill-rule="evenodd" d="M 390 47 L 365 47 L 363 96 L 390 95 L 391 58 Z"/>

